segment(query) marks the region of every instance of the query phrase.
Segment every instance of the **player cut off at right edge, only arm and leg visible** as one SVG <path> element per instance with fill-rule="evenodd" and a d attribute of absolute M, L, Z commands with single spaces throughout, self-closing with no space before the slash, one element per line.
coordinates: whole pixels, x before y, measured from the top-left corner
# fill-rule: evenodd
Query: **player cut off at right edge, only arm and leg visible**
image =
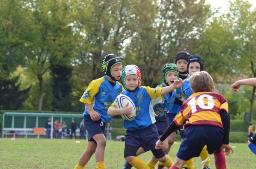
<path fill-rule="evenodd" d="M 256 86 L 256 78 L 238 80 L 231 85 L 232 91 L 238 93 L 241 85 Z M 256 94 L 256 93 L 255 93 Z M 247 141 L 248 147 L 256 155 L 256 134 L 249 138 Z"/>

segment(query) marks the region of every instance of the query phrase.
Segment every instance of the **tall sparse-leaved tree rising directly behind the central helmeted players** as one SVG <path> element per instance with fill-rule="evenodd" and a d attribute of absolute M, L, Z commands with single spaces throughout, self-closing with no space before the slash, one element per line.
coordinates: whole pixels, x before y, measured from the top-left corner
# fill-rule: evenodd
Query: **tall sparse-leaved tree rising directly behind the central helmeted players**
<path fill-rule="evenodd" d="M 145 85 L 160 82 L 160 68 L 174 62 L 177 51 L 192 51 L 194 38 L 201 34 L 210 16 L 204 0 L 140 1 L 136 33 L 125 50 L 127 60 L 142 70 Z"/>

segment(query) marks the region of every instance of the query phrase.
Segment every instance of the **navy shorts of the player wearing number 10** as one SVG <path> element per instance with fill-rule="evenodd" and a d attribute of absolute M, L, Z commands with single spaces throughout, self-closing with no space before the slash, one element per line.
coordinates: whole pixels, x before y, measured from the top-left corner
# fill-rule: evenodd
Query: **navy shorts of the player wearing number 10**
<path fill-rule="evenodd" d="M 180 144 L 177 157 L 187 161 L 198 157 L 205 145 L 209 154 L 219 150 L 222 145 L 223 130 L 209 125 L 190 125 L 184 131 L 186 137 Z"/>

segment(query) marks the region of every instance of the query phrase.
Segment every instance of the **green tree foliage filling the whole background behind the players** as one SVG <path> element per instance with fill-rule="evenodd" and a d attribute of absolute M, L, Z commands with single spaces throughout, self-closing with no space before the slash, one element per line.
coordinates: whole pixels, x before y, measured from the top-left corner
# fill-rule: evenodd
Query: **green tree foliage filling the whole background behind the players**
<path fill-rule="evenodd" d="M 2 0 L 0 79 L 14 71 L 24 75 L 20 89 L 31 90 L 20 109 L 61 110 L 67 104 L 65 110 L 83 111 L 79 99 L 103 76 L 102 58 L 109 53 L 123 65 L 138 65 L 142 85 L 151 87 L 161 83 L 160 68 L 181 50 L 201 55 L 217 82 L 256 77 L 256 12 L 250 6 L 236 0 L 221 14 L 205 0 Z M 232 118 L 241 118 L 249 104 L 253 117 L 253 90 L 239 98 L 221 92 Z"/>

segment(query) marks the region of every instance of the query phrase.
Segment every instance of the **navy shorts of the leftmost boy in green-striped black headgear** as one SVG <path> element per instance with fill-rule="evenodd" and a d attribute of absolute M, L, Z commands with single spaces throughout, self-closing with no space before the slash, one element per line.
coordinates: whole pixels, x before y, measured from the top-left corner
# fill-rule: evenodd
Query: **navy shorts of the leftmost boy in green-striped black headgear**
<path fill-rule="evenodd" d="M 98 121 L 93 121 L 90 115 L 84 115 L 84 127 L 88 131 L 88 141 L 96 141 L 93 139 L 93 135 L 104 134 L 105 123 L 100 119 Z"/>

